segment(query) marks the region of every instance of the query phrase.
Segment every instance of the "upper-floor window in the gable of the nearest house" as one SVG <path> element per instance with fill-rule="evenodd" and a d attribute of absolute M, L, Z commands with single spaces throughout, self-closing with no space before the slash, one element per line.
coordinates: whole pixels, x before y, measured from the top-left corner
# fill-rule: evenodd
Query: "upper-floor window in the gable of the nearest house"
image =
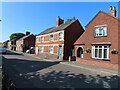
<path fill-rule="evenodd" d="M 106 26 L 95 27 L 94 36 L 95 37 L 107 36 L 107 27 Z"/>

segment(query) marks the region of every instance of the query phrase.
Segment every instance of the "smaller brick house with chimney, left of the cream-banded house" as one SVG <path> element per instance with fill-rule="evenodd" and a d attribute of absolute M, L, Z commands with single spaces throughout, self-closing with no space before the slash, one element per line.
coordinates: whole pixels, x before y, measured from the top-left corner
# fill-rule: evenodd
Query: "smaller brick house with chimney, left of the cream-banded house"
<path fill-rule="evenodd" d="M 35 35 L 26 32 L 26 35 L 16 41 L 16 51 L 25 52 L 30 47 L 35 47 Z"/>

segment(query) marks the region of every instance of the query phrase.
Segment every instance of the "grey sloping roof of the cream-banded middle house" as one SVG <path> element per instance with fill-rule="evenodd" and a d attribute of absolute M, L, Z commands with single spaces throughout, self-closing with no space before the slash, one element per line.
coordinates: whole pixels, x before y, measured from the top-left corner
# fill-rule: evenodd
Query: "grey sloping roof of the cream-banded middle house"
<path fill-rule="evenodd" d="M 43 34 L 47 34 L 47 33 L 51 33 L 51 32 L 56 32 L 56 31 L 64 30 L 65 28 L 67 28 L 68 26 L 70 26 L 75 21 L 76 20 L 73 20 L 71 22 L 61 24 L 60 26 L 55 26 L 55 27 L 48 28 L 48 29 L 44 30 L 43 32 L 41 32 L 38 35 L 43 35 Z"/>

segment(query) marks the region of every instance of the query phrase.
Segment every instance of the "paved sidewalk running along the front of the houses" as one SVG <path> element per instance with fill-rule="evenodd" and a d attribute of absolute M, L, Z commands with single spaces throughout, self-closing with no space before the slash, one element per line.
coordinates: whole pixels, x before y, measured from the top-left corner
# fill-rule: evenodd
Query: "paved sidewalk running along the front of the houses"
<path fill-rule="evenodd" d="M 97 71 L 97 72 L 99 71 L 99 72 L 105 73 L 105 74 L 120 76 L 120 72 L 118 72 L 116 70 L 111 70 L 111 69 L 101 68 L 101 67 L 97 67 L 97 66 L 86 65 L 86 64 L 83 64 L 83 63 L 80 63 L 80 62 L 75 62 L 75 61 L 68 62 L 67 60 L 45 59 L 45 58 L 41 58 L 41 57 L 39 57 L 39 56 L 37 56 L 35 54 L 28 54 L 28 53 L 22 53 L 22 52 L 16 52 L 16 51 L 12 51 L 12 52 L 23 54 L 23 55 L 27 55 L 27 56 L 31 56 L 31 57 L 40 59 L 40 61 L 42 59 L 43 61 L 60 62 L 60 64 L 69 65 L 69 66 L 76 67 L 76 68 L 82 68 L 82 69 L 86 69 L 86 70 L 90 70 L 90 71 Z"/>

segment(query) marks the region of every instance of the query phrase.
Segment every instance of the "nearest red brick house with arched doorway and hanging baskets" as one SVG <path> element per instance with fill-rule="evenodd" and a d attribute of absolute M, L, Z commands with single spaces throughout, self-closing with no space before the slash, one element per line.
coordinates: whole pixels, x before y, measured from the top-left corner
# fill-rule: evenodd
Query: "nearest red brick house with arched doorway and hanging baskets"
<path fill-rule="evenodd" d="M 120 63 L 118 59 L 120 56 L 119 29 L 120 19 L 116 17 L 115 7 L 110 6 L 109 13 L 100 10 L 86 25 L 86 31 L 74 43 L 76 61 L 118 69 Z"/>

